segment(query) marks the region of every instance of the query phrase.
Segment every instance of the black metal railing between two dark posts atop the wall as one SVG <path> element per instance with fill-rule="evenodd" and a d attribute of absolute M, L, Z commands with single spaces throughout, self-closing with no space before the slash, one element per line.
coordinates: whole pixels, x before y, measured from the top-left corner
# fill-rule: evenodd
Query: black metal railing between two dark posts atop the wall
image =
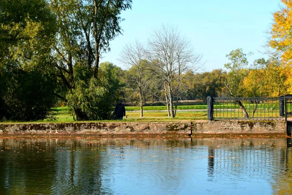
<path fill-rule="evenodd" d="M 291 97 L 292 98 L 292 97 Z M 212 98 L 208 97 L 210 120 L 278 120 L 284 118 L 284 97 Z M 291 99 L 292 100 L 292 99 Z M 285 104 L 287 105 L 287 104 Z M 291 109 L 292 114 L 292 109 Z"/>

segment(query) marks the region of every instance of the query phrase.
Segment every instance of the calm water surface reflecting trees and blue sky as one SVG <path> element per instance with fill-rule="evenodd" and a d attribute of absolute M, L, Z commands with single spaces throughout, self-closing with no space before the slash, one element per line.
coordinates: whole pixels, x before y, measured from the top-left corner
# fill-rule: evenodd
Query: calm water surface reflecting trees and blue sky
<path fill-rule="evenodd" d="M 0 139 L 0 195 L 291 195 L 291 139 Z"/>

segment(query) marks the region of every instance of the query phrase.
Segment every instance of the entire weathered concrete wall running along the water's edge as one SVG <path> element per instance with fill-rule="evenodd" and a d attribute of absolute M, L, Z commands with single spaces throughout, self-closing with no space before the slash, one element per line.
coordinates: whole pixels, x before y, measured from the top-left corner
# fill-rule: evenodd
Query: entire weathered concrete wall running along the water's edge
<path fill-rule="evenodd" d="M 75 122 L 0 124 L 0 135 L 22 134 L 286 134 L 285 121 Z"/>

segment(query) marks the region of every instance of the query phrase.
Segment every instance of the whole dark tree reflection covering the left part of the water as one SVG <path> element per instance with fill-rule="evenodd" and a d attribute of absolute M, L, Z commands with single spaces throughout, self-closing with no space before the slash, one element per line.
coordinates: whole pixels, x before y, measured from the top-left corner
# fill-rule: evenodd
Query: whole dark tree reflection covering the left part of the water
<path fill-rule="evenodd" d="M 68 139 L 4 140 L 0 194 L 112 194 L 106 186 L 101 191 L 100 174 L 106 168 L 97 147 Z"/>

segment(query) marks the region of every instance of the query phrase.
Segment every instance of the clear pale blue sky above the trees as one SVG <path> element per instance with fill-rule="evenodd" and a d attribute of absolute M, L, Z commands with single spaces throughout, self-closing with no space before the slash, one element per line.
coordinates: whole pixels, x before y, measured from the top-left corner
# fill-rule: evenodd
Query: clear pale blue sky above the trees
<path fill-rule="evenodd" d="M 203 55 L 205 71 L 223 68 L 226 54 L 237 48 L 253 52 L 255 59 L 262 54 L 267 42 L 267 30 L 280 0 L 133 0 L 132 9 L 122 13 L 123 35 L 110 42 L 111 52 L 103 54 L 103 61 L 119 61 L 122 48 L 129 42 L 146 42 L 153 29 L 162 24 L 177 26 L 182 35 L 191 40 L 195 52 Z"/>

